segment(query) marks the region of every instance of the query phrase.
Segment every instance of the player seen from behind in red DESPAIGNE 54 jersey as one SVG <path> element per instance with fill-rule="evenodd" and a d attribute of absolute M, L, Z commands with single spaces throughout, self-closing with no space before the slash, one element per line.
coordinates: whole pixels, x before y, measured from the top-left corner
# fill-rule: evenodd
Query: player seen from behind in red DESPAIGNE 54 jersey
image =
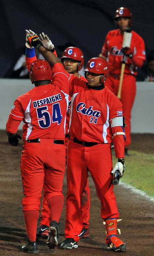
<path fill-rule="evenodd" d="M 36 38 L 30 37 L 30 42 Z M 38 43 L 41 46 L 40 43 Z M 46 56 L 46 49 L 40 47 Z M 61 60 L 48 51 L 50 65 L 46 60 L 35 60 L 30 67 L 30 80 L 35 88 L 19 96 L 13 104 L 6 131 L 8 141 L 17 146 L 18 125 L 23 125 L 23 151 L 21 175 L 24 189 L 23 213 L 28 243 L 22 251 L 38 253 L 36 242 L 37 220 L 41 192 L 45 187 L 45 197 L 50 209 L 50 227 L 47 245 L 54 248 L 58 242 L 58 225 L 63 209 L 63 177 L 66 164 L 65 123 L 68 106 L 70 74 L 65 71 Z M 51 83 L 52 80 L 52 83 Z"/>

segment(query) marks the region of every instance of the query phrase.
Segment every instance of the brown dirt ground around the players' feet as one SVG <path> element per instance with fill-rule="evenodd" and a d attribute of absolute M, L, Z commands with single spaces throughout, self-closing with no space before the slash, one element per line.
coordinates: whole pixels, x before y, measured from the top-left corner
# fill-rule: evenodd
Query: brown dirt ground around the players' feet
<path fill-rule="evenodd" d="M 20 175 L 20 155 L 22 143 L 12 147 L 7 142 L 5 131 L 0 131 L 0 256 L 26 255 L 20 251 L 26 242 L 26 233 L 22 217 L 22 182 Z M 154 135 L 132 135 L 130 149 L 154 153 Z M 79 241 L 79 248 L 72 250 L 49 250 L 45 239 L 39 239 L 39 254 L 47 255 L 113 255 L 105 244 L 105 227 L 100 217 L 100 202 L 91 177 L 91 218 L 90 237 Z M 64 180 L 64 195 L 66 195 L 66 178 Z M 152 256 L 154 241 L 154 202 L 134 194 L 130 189 L 123 188 L 120 184 L 115 187 L 118 209 L 122 221 L 121 239 L 126 242 L 125 256 Z M 64 239 L 64 210 L 61 217 L 59 243 Z"/>

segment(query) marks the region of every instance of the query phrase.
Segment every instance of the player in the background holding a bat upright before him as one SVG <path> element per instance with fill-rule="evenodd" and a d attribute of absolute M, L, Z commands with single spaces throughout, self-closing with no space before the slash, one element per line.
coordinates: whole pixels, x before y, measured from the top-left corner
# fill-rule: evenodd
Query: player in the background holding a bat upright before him
<path fill-rule="evenodd" d="M 125 155 L 128 154 L 131 143 L 131 111 L 136 95 L 137 68 L 141 68 L 145 61 L 145 45 L 143 39 L 132 31 L 132 40 L 129 47 L 122 48 L 124 31 L 132 26 L 132 13 L 128 8 L 120 7 L 116 10 L 115 23 L 118 29 L 109 31 L 102 48 L 100 57 L 107 59 L 109 64 L 109 76 L 105 85 L 115 95 L 118 93 L 121 61 L 123 55 L 126 55 L 126 65 L 122 81 L 121 102 L 125 116 Z"/>

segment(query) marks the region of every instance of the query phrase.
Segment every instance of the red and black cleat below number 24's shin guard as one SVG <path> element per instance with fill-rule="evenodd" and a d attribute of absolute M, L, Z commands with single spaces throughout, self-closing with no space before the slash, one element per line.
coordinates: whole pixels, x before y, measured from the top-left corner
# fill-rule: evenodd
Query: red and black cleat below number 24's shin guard
<path fill-rule="evenodd" d="M 117 236 L 109 236 L 106 238 L 109 251 L 124 252 L 126 250 L 126 244 L 123 243 Z"/>

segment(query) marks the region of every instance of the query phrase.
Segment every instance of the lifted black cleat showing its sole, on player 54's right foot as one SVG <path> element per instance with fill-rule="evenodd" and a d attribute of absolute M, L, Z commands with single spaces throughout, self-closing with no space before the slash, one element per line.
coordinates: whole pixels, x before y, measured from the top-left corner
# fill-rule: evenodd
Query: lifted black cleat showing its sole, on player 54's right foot
<path fill-rule="evenodd" d="M 54 249 L 55 246 L 58 245 L 58 223 L 57 221 L 51 221 L 50 222 L 50 227 L 48 229 L 49 231 L 49 236 L 47 239 L 47 246 L 49 247 L 49 249 Z"/>

